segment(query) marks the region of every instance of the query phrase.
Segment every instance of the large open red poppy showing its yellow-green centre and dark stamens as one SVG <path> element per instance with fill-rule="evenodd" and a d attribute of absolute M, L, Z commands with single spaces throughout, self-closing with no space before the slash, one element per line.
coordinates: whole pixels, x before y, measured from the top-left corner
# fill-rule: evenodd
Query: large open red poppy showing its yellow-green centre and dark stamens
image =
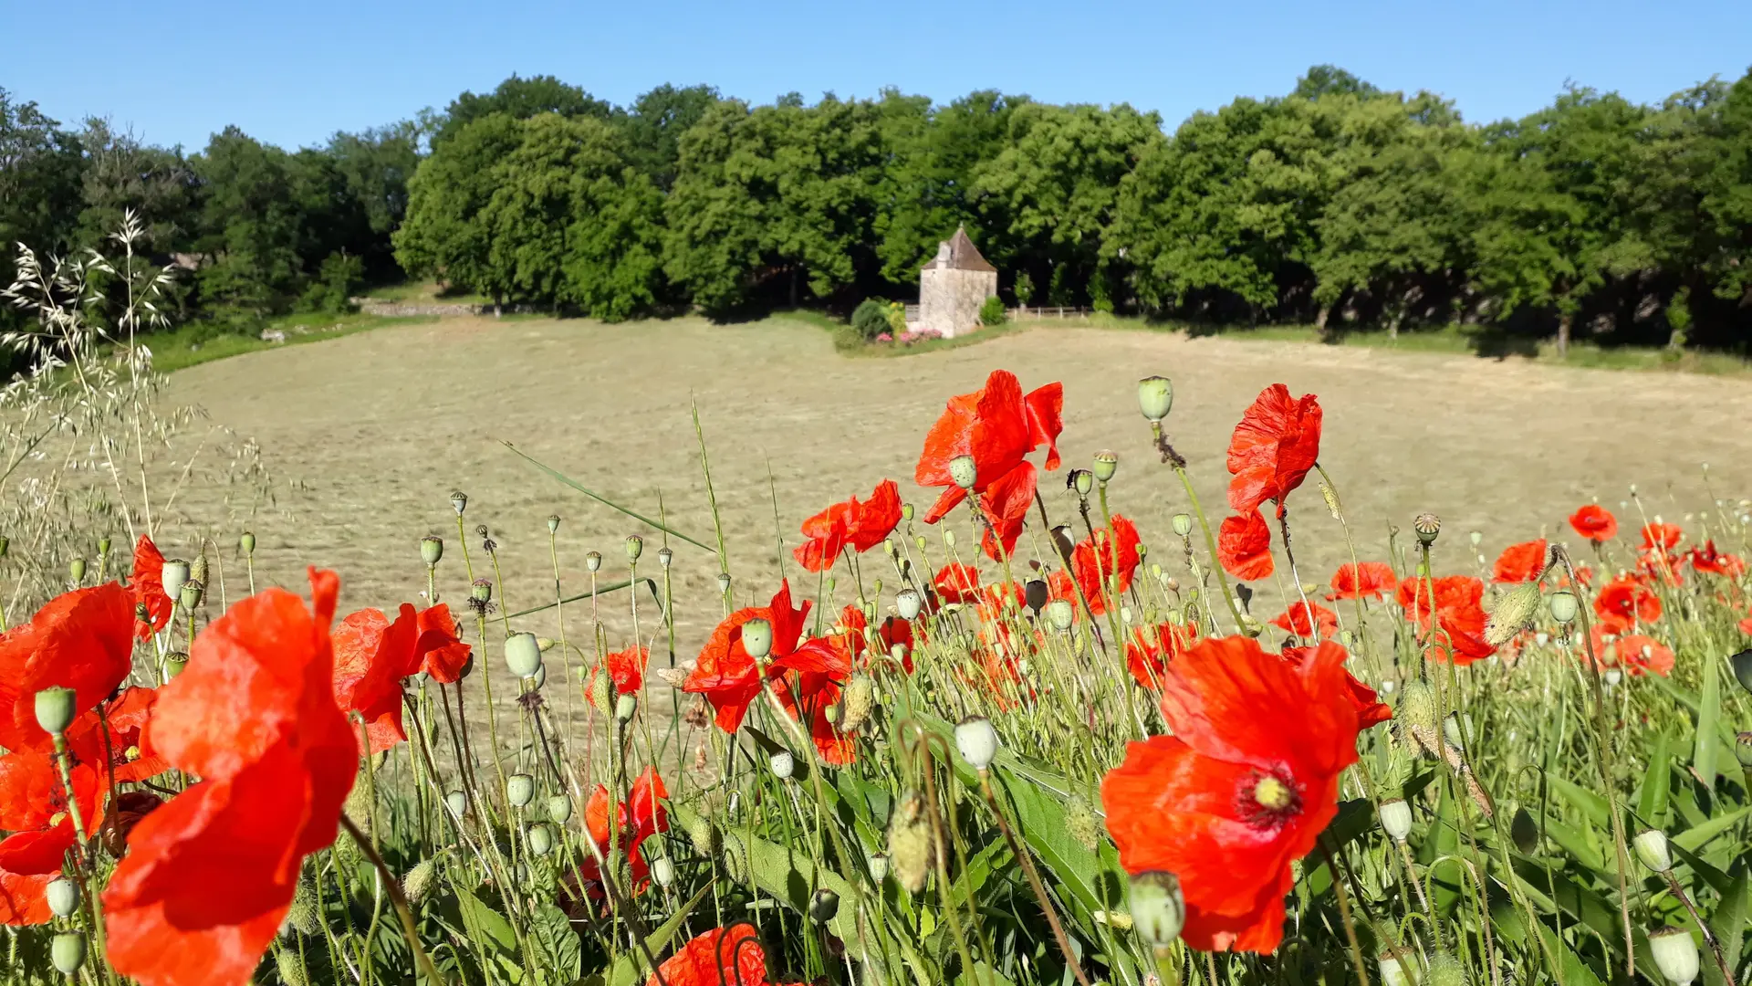
<path fill-rule="evenodd" d="M 1270 953 L 1282 940 L 1289 863 L 1339 811 L 1358 714 L 1344 649 L 1293 667 L 1247 637 L 1188 647 L 1163 675 L 1174 735 L 1127 747 L 1102 781 L 1127 872 L 1181 879 L 1181 937 L 1202 951 Z"/>

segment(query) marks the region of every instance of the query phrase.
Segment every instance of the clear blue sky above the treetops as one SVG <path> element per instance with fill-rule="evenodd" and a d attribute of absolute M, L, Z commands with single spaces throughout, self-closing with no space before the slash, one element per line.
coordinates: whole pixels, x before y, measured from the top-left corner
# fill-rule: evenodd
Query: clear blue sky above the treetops
<path fill-rule="evenodd" d="M 109 116 L 189 149 L 230 123 L 319 144 L 512 72 L 617 104 L 662 82 L 752 102 L 999 88 L 1130 102 L 1172 130 L 1237 95 L 1286 93 L 1323 61 L 1433 89 L 1475 121 L 1531 112 L 1570 79 L 1650 102 L 1752 65 L 1748 0 L 12 0 L 0 23 L 0 88 L 63 123 Z"/>

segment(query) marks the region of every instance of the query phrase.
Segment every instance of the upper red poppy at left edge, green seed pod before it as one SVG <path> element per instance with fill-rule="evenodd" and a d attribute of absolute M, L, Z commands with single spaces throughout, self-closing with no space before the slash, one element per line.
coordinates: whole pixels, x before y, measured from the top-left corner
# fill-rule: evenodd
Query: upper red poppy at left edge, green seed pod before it
<path fill-rule="evenodd" d="M 49 600 L 0 635 L 0 747 L 42 749 L 37 693 L 72 688 L 79 712 L 110 697 L 133 670 L 133 593 L 117 582 Z"/>

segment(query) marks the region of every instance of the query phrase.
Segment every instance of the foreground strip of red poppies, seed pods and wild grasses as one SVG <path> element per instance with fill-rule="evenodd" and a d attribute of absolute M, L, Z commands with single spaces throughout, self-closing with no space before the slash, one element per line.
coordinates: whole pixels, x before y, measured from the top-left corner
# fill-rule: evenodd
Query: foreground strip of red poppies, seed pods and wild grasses
<path fill-rule="evenodd" d="M 54 346 L 5 395 L 7 982 L 1752 974 L 1736 489 L 1486 551 L 1353 514 L 1393 477 L 1323 458 L 1370 425 L 1319 393 L 1253 381 L 1190 454 L 1172 367 L 1125 368 L 1123 444 L 1074 460 L 1077 393 L 986 367 L 883 412 L 906 474 L 766 518 L 776 577 L 731 563 L 706 416 L 704 507 L 590 491 L 639 533 L 582 575 L 559 516 L 508 572 L 457 489 L 356 600 L 258 572 L 247 444 L 175 486 L 191 421 L 128 335 L 154 272 L 23 268 Z M 103 323 L 67 304 L 100 288 Z"/>

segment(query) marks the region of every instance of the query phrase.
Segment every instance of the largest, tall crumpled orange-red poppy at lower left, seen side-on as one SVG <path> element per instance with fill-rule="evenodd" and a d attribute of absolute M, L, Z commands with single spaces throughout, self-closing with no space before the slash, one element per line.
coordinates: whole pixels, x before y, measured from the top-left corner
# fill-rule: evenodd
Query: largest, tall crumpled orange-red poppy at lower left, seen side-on
<path fill-rule="evenodd" d="M 159 689 L 152 742 L 201 777 L 128 835 L 103 911 L 109 960 L 142 986 L 245 982 L 293 904 L 303 858 L 335 840 L 359 768 L 335 704 L 338 581 L 310 570 L 238 602 Z"/>

